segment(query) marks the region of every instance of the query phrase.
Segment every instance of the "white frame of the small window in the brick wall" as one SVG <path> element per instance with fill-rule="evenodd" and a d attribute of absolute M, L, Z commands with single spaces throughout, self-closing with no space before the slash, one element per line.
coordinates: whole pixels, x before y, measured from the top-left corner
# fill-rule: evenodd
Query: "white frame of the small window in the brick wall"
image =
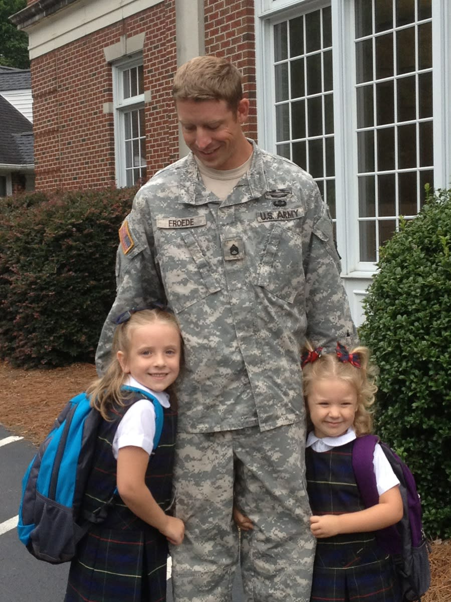
<path fill-rule="evenodd" d="M 124 98 L 123 72 L 143 65 L 143 55 L 127 57 L 126 60 L 112 64 L 113 105 L 114 105 L 114 155 L 116 185 L 127 186 L 126 150 L 124 139 L 124 114 L 130 110 L 144 108 L 144 91 L 142 94 Z"/>

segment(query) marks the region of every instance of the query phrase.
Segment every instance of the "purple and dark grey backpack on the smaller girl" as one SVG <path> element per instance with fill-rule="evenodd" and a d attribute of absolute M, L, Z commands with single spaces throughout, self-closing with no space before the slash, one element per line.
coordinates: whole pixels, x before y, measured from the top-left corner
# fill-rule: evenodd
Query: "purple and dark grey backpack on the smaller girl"
<path fill-rule="evenodd" d="M 373 454 L 376 443 L 390 462 L 400 482 L 404 514 L 399 523 L 376 531 L 379 545 L 391 555 L 400 585 L 400 602 L 420 602 L 431 583 L 429 543 L 422 526 L 422 507 L 413 474 L 407 465 L 376 435 L 363 435 L 355 439 L 352 448 L 352 468 L 355 480 L 366 507 L 379 501 Z"/>

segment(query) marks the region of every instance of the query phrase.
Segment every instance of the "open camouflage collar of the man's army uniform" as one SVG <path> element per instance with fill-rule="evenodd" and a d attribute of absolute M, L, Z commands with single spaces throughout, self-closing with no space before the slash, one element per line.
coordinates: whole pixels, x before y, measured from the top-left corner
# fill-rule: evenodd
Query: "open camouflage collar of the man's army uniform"
<path fill-rule="evenodd" d="M 268 190 L 262 154 L 251 138 L 247 138 L 247 140 L 253 146 L 251 166 L 239 181 L 238 186 L 221 203 L 221 207 L 240 205 L 248 200 L 259 199 Z M 185 157 L 185 164 L 180 169 L 179 202 L 188 205 L 206 205 L 209 200 L 210 192 L 204 187 L 194 155 L 190 151 L 189 155 Z"/>

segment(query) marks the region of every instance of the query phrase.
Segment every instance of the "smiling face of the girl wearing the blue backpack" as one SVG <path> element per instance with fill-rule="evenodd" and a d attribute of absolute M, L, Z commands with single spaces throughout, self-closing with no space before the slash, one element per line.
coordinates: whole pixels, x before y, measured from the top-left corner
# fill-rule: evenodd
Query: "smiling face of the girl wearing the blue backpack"
<path fill-rule="evenodd" d="M 181 341 L 177 327 L 155 321 L 133 327 L 129 337 L 129 352 L 117 352 L 123 372 L 153 391 L 167 389 L 180 371 Z"/>

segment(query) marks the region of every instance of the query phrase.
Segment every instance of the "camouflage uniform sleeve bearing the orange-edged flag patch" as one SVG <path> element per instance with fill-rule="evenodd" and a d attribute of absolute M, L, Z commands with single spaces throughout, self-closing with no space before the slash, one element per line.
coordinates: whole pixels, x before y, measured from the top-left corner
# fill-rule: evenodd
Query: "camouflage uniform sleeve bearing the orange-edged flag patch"
<path fill-rule="evenodd" d="M 96 351 L 97 373 L 108 368 L 114 320 L 133 307 L 146 307 L 155 301 L 165 302 L 161 276 L 155 263 L 153 233 L 147 214 L 146 193 L 138 191 L 132 211 L 120 228 L 116 255 L 116 298 L 103 324 Z"/>

